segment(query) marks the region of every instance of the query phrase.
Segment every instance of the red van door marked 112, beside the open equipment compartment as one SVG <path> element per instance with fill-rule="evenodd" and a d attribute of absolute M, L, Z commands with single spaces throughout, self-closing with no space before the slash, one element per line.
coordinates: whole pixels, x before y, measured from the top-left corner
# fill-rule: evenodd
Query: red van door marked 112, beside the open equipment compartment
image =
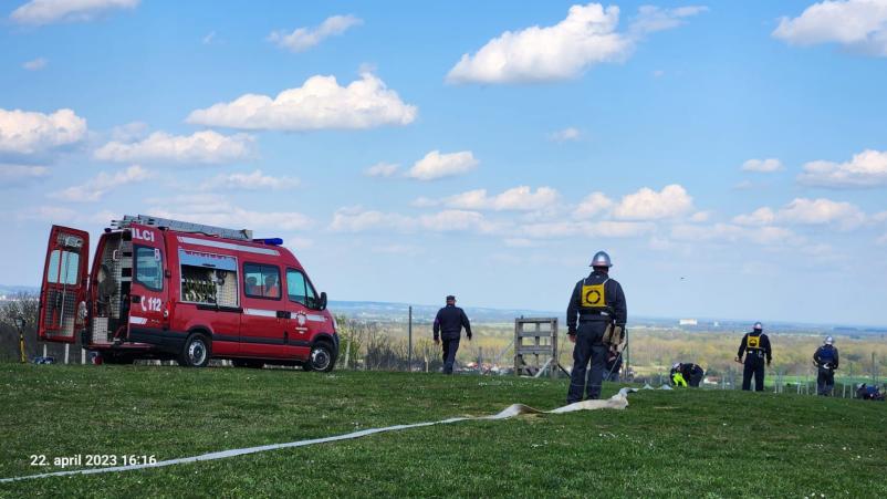
<path fill-rule="evenodd" d="M 133 225 L 133 284 L 129 291 L 129 328 L 160 334 L 168 313 L 170 283 L 164 277 L 164 235 L 154 227 Z"/>

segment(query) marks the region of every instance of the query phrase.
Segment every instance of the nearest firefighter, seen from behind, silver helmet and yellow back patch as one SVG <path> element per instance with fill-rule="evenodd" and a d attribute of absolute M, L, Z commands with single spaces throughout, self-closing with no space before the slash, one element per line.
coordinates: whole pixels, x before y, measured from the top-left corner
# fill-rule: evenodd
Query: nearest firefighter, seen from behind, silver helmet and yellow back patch
<path fill-rule="evenodd" d="M 587 398 L 601 396 L 601 385 L 609 347 L 604 344 L 607 325 L 625 328 L 627 309 L 622 285 L 611 279 L 609 256 L 597 252 L 592 260 L 594 271 L 576 282 L 570 305 L 566 309 L 567 334 L 575 340 L 573 371 L 570 374 L 567 404 L 582 401 L 587 387 Z M 588 362 L 592 371 L 588 375 Z M 586 380 L 587 377 L 587 380 Z"/>

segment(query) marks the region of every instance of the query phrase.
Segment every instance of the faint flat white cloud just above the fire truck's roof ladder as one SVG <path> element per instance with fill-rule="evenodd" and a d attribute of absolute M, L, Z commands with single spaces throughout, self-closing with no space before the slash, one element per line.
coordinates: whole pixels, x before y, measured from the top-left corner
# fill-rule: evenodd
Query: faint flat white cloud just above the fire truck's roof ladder
<path fill-rule="evenodd" d="M 146 199 L 153 204 L 148 209 L 155 217 L 188 220 L 217 227 L 267 230 L 270 235 L 280 230 L 305 230 L 314 226 L 306 215 L 295 211 L 252 211 L 231 205 L 219 195 L 182 195 L 171 198 Z M 269 232 L 265 232 L 269 233 Z M 261 236 L 261 233 L 255 233 Z"/>

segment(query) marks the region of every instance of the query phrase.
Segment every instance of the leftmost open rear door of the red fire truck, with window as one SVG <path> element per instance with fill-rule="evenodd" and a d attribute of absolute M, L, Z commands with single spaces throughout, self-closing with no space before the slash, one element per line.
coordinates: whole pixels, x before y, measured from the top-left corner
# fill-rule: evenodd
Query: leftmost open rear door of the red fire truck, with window
<path fill-rule="evenodd" d="M 90 233 L 52 226 L 40 288 L 38 334 L 43 341 L 74 343 L 83 328 Z M 80 310 L 83 309 L 83 310 Z"/>

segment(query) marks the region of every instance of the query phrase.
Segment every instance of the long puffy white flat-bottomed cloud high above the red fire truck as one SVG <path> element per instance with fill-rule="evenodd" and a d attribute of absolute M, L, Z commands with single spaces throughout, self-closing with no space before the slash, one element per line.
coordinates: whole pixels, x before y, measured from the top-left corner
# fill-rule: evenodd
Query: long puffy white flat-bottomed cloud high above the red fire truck
<path fill-rule="evenodd" d="M 274 98 L 246 94 L 194 111 L 187 122 L 242 129 L 359 129 L 408 125 L 417 113 L 416 106 L 405 104 L 385 82 L 364 72 L 348 86 L 340 86 L 335 76 L 312 76 L 301 87 L 284 90 Z"/>

